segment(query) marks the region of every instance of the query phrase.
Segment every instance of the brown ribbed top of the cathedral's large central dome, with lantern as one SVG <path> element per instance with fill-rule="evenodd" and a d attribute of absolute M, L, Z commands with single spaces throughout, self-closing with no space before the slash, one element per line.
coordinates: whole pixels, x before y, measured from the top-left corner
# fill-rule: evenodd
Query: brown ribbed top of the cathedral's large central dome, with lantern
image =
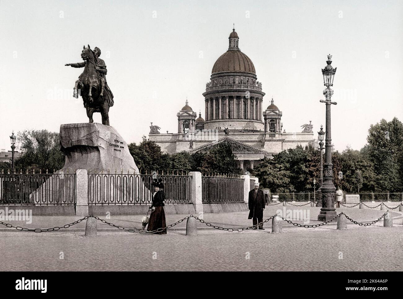
<path fill-rule="evenodd" d="M 218 57 L 214 63 L 212 74 L 220 72 L 247 72 L 256 74 L 255 66 L 249 57 L 239 50 L 238 34 L 235 29 L 229 35 L 229 48 L 224 54 Z"/>

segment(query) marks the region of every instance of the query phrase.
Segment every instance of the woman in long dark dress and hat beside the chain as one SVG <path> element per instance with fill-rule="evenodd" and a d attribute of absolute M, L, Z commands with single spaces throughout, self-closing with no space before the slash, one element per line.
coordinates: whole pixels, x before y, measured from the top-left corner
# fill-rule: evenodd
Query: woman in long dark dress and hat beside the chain
<path fill-rule="evenodd" d="M 152 205 L 150 220 L 148 221 L 147 231 L 153 231 L 161 227 L 166 227 L 164 203 L 165 194 L 163 190 L 157 184 L 154 185 L 154 194 L 152 195 Z M 166 234 L 166 229 L 162 231 L 155 232 L 159 235 Z"/>

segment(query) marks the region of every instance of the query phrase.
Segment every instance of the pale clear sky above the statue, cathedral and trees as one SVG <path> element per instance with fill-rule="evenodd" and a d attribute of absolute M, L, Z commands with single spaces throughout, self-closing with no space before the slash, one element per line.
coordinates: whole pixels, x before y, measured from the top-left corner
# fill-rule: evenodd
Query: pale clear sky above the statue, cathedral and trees
<path fill-rule="evenodd" d="M 127 143 L 148 135 L 150 122 L 177 133 L 186 97 L 204 117 L 202 93 L 235 23 L 263 106 L 274 97 L 287 133 L 325 125 L 321 69 L 333 55 L 332 143 L 360 149 L 371 124 L 403 121 L 402 15 L 402 1 L 384 0 L 1 0 L 0 148 L 10 149 L 12 130 L 88 122 L 72 96 L 83 69 L 64 66 L 81 62 L 87 44 L 102 51 L 115 102 L 110 124 Z"/>

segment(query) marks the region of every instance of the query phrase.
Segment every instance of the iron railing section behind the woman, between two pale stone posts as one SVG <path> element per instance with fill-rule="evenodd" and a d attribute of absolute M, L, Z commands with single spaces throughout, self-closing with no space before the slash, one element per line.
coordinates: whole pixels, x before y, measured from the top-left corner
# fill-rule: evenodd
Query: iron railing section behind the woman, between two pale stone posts
<path fill-rule="evenodd" d="M 150 205 L 153 182 L 163 184 L 165 204 L 191 203 L 191 177 L 154 174 L 88 174 L 91 205 Z"/>

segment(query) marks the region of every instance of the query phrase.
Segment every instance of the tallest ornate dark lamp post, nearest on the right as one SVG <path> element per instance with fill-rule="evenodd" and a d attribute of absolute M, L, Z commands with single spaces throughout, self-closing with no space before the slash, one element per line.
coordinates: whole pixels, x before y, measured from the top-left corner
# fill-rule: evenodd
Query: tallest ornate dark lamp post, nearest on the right
<path fill-rule="evenodd" d="M 330 125 L 330 106 L 336 105 L 336 102 L 331 101 L 333 90 L 330 86 L 333 86 L 334 74 L 337 68 L 331 66 L 332 55 L 328 55 L 326 61 L 327 66 L 322 69 L 323 82 L 326 89 L 323 90 L 323 94 L 326 100 L 320 100 L 320 102 L 326 104 L 326 141 L 325 141 L 325 163 L 323 165 L 323 184 L 320 187 L 322 197 L 322 208 L 318 215 L 318 221 L 328 221 L 337 216 L 336 209 L 334 208 L 334 192 L 336 188 L 333 184 L 333 164 L 332 164 L 332 135 Z"/>

